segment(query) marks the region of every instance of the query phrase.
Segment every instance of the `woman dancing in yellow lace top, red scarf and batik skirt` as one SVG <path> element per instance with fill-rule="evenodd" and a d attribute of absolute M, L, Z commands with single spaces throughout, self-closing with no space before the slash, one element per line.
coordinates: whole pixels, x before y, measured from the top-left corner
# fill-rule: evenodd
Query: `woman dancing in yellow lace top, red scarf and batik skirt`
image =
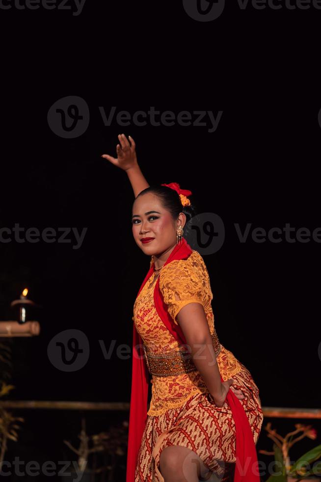
<path fill-rule="evenodd" d="M 117 158 L 102 157 L 128 175 L 134 240 L 150 257 L 134 303 L 127 482 L 259 482 L 259 390 L 220 344 L 208 271 L 182 237 L 192 193 L 176 182 L 149 186 L 134 139 L 118 139 Z"/>

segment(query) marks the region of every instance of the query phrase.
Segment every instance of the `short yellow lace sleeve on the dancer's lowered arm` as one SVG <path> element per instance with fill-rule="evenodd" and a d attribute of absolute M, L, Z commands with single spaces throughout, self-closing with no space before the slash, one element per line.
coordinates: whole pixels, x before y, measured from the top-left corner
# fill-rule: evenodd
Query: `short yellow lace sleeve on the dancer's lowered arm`
<path fill-rule="evenodd" d="M 187 260 L 172 261 L 160 272 L 160 291 L 176 325 L 176 316 L 183 306 L 193 302 L 204 306 L 204 286 L 202 270 Z"/>

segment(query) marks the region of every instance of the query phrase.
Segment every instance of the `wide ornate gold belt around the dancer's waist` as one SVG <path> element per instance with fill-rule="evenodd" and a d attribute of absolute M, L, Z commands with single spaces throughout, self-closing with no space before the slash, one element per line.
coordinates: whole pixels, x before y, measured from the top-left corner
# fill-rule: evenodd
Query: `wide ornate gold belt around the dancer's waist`
<path fill-rule="evenodd" d="M 215 341 L 213 345 L 215 355 L 217 357 L 221 351 L 221 345 L 219 343 L 217 344 L 217 339 L 214 339 L 214 335 L 212 335 L 212 339 Z M 163 352 L 156 355 L 148 352 L 145 344 L 143 346 L 147 368 L 151 375 L 157 377 L 168 377 L 197 370 L 192 356 L 187 350 Z"/>

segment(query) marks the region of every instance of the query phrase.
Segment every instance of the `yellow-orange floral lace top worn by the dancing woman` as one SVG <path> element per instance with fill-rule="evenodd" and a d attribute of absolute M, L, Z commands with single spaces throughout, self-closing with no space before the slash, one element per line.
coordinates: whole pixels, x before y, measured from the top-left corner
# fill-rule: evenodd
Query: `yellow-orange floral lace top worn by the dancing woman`
<path fill-rule="evenodd" d="M 151 259 L 150 266 L 153 260 Z M 210 279 L 202 256 L 198 251 L 186 260 L 173 260 L 160 271 L 154 271 L 145 283 L 134 303 L 134 323 L 144 344 L 154 354 L 178 350 L 180 344 L 160 319 L 154 305 L 155 282 L 160 276 L 160 291 L 168 312 L 176 324 L 176 316 L 183 306 L 191 302 L 201 303 L 209 323 L 210 332 L 221 347 L 217 363 L 223 380 L 233 377 L 241 370 L 240 362 L 223 345 L 219 344 L 214 328 Z M 176 376 L 153 376 L 152 398 L 148 415 L 160 415 L 169 408 L 184 404 L 195 393 L 208 392 L 199 371 Z"/>

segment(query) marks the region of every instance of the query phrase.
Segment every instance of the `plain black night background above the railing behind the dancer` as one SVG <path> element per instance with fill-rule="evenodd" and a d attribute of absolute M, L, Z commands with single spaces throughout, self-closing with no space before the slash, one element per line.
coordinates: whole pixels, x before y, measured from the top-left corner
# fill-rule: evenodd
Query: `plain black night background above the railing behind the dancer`
<path fill-rule="evenodd" d="M 241 243 L 245 229 L 311 232 L 321 226 L 321 11 L 225 6 L 197 22 L 182 3 L 87 1 L 58 10 L 1 13 L 1 227 L 86 227 L 72 243 L 0 243 L 0 318 L 27 286 L 43 305 L 39 336 L 7 340 L 11 399 L 129 401 L 131 359 L 105 360 L 99 340 L 132 346 L 133 304 L 148 270 L 131 232 L 134 195 L 124 172 L 101 158 L 130 134 L 150 183 L 179 182 L 199 212 L 218 214 L 222 248 L 204 256 L 221 343 L 242 361 L 262 405 L 320 406 L 320 243 Z M 77 95 L 89 126 L 74 139 L 47 121 Z M 104 126 L 108 111 L 223 111 L 204 126 Z M 57 370 L 47 356 L 60 331 L 79 329 L 85 366 Z M 265 448 L 267 445 L 265 444 Z"/>

